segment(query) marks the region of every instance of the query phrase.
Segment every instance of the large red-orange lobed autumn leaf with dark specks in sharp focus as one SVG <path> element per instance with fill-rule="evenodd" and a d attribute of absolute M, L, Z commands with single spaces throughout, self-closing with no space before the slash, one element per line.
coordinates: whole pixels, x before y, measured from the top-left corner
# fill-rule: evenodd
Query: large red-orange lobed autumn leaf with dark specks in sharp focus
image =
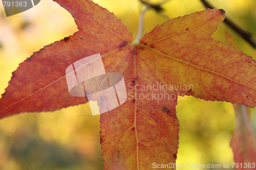
<path fill-rule="evenodd" d="M 92 1 L 56 2 L 72 14 L 79 31 L 19 64 L 0 99 L 0 118 L 87 103 L 87 98 L 70 95 L 65 71 L 94 54 L 101 55 L 106 72 L 123 75 L 128 95 L 120 107 L 101 114 L 105 169 L 175 163 L 178 95 L 256 105 L 256 62 L 211 38 L 224 10 L 167 20 L 134 43 L 122 21 Z"/>

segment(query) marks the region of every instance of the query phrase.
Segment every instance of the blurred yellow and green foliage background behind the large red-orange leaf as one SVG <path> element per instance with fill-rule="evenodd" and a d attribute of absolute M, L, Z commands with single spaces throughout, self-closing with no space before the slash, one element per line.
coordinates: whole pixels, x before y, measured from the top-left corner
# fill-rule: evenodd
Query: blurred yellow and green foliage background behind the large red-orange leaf
<path fill-rule="evenodd" d="M 113 12 L 137 36 L 142 5 L 138 0 L 94 0 Z M 150 1 L 159 3 L 160 1 Z M 256 35 L 256 1 L 209 0 L 216 8 L 243 29 Z M 204 10 L 199 0 L 171 0 L 163 6 L 164 14 L 174 18 Z M 153 9 L 144 18 L 143 33 L 151 31 L 166 18 Z M 0 5 L 0 93 L 8 86 L 11 72 L 18 63 L 39 51 L 44 45 L 73 35 L 78 31 L 74 19 L 65 9 L 50 0 L 41 0 L 34 8 L 6 17 Z M 223 23 L 212 36 L 225 43 L 225 32 L 236 39 L 240 50 L 256 57 L 255 50 Z M 254 58 L 255 59 L 255 58 Z M 177 164 L 231 164 L 229 147 L 236 121 L 232 105 L 207 102 L 193 97 L 179 98 L 180 144 Z M 55 112 L 23 113 L 0 120 L 0 169 L 103 169 L 99 118 L 92 116 L 88 105 Z M 256 129 L 256 109 L 251 109 Z M 182 169 L 182 168 L 181 168 Z M 189 168 L 187 168 L 189 169 Z"/>

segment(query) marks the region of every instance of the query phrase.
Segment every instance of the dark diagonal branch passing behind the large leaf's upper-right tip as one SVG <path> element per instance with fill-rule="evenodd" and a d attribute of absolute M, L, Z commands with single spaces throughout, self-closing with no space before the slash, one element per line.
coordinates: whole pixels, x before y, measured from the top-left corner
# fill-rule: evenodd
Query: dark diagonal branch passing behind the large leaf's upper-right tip
<path fill-rule="evenodd" d="M 205 0 L 201 0 L 206 8 L 213 9 L 210 4 L 208 4 Z M 235 32 L 241 35 L 253 48 L 256 48 L 256 42 L 252 39 L 252 34 L 244 31 L 241 27 L 239 27 L 236 23 L 231 21 L 228 17 L 225 17 L 224 22 Z"/>

